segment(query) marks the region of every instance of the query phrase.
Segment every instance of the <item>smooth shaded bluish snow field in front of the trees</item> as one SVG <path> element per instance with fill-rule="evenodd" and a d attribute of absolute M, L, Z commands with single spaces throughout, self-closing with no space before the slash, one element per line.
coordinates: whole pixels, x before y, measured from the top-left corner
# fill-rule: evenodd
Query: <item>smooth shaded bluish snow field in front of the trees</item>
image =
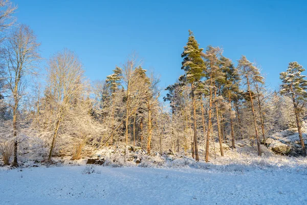
<path fill-rule="evenodd" d="M 1 204 L 307 204 L 306 169 L 217 167 L 3 169 L 0 198 Z"/>

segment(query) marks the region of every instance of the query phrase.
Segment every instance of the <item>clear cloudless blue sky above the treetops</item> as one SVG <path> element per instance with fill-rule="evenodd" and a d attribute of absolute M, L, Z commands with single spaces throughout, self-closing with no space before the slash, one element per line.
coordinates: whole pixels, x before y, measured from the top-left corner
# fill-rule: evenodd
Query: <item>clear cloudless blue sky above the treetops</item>
<path fill-rule="evenodd" d="M 273 89 L 290 61 L 307 68 L 306 1 L 12 1 L 18 22 L 42 43 L 42 56 L 69 48 L 91 80 L 105 79 L 136 51 L 145 69 L 161 75 L 161 86 L 174 83 L 188 29 L 202 48 L 256 60 Z"/>

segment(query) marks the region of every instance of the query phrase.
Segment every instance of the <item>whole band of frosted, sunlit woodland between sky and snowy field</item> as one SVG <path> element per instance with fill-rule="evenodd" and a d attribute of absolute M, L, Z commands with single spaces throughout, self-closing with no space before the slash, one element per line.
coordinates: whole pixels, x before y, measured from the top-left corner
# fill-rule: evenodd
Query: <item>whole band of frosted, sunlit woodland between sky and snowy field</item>
<path fill-rule="evenodd" d="M 297 130 L 295 154 L 305 156 L 307 80 L 296 61 L 284 65 L 280 89 L 271 90 L 257 62 L 245 55 L 233 61 L 220 47 L 203 49 L 189 30 L 178 68 L 182 75 L 172 85 L 161 87 L 159 75 L 146 70 L 135 52 L 109 68 L 106 79 L 93 82 L 67 48 L 40 68 L 34 31 L 13 17 L 17 7 L 8 1 L 0 6 L 5 165 L 17 167 L 19 156 L 78 160 L 104 147 L 123 148 L 124 154 L 128 149 L 184 153 L 208 162 L 242 140 L 261 156 L 267 148 L 260 145 L 270 145 L 271 135 L 287 129 Z"/>

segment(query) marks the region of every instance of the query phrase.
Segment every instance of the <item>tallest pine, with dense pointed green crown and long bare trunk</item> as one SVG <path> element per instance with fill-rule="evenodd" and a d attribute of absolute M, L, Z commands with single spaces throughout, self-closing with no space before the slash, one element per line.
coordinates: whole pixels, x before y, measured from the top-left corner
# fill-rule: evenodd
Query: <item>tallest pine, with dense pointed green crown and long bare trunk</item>
<path fill-rule="evenodd" d="M 195 160 L 199 161 L 198 153 L 198 141 L 197 141 L 197 128 L 196 128 L 196 97 L 195 97 L 195 83 L 203 77 L 203 70 L 205 69 L 204 60 L 201 57 L 203 49 L 199 48 L 194 34 L 189 30 L 188 43 L 184 47 L 184 51 L 181 54 L 183 57 L 182 67 L 185 71 L 186 81 L 191 84 L 191 95 L 193 102 L 193 116 L 194 116 L 194 150 Z"/>

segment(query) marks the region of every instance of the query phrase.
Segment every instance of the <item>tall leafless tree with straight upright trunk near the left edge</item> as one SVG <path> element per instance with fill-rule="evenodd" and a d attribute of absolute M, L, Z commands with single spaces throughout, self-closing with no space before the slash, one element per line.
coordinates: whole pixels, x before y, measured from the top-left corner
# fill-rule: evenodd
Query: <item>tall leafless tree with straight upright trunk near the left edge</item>
<path fill-rule="evenodd" d="M 0 2 L 1 3 L 1 2 Z M 20 100 L 26 95 L 28 76 L 36 74 L 37 63 L 41 58 L 40 43 L 37 43 L 34 32 L 26 25 L 20 25 L 11 31 L 5 42 L 2 59 L 5 71 L 1 72 L 11 96 L 9 105 L 13 110 L 14 161 L 17 166 L 17 117 Z"/>

